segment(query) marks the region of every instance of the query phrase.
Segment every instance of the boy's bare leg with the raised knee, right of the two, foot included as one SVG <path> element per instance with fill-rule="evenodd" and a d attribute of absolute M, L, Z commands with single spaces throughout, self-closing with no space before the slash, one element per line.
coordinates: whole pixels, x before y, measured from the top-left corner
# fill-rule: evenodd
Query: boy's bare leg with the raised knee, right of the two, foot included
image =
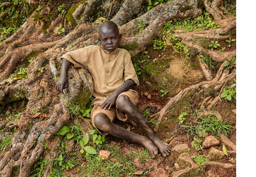
<path fill-rule="evenodd" d="M 147 133 L 148 138 L 150 138 L 157 146 L 163 157 L 170 154 L 170 145 L 166 143 L 156 131 L 154 131 L 146 118 L 143 117 L 141 111 L 130 101 L 128 96 L 118 96 L 116 99 L 116 106 Z"/>

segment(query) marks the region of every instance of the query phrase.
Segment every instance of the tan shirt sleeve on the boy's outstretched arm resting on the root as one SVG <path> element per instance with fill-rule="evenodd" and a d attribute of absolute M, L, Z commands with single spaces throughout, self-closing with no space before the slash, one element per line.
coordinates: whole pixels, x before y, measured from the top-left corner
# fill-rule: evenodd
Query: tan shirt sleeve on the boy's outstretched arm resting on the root
<path fill-rule="evenodd" d="M 67 59 L 69 62 L 74 64 L 74 67 L 86 67 L 88 64 L 88 49 L 81 48 L 65 53 L 61 59 Z"/>

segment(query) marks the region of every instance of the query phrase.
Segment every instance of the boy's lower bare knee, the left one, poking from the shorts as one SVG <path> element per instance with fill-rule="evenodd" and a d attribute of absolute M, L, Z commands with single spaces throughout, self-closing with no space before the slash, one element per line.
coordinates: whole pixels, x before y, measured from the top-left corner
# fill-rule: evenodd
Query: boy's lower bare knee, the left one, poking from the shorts
<path fill-rule="evenodd" d="M 102 131 L 108 131 L 109 124 L 111 124 L 111 120 L 104 113 L 95 115 L 93 122 L 95 126 Z"/>

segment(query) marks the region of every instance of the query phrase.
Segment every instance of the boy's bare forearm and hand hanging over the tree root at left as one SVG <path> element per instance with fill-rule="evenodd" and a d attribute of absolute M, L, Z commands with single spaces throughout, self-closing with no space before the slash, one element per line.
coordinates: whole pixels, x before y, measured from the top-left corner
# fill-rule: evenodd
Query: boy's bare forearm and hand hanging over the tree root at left
<path fill-rule="evenodd" d="M 62 59 L 61 62 L 61 71 L 60 71 L 60 79 L 56 82 L 55 89 L 58 90 L 58 92 L 63 93 L 63 89 L 68 87 L 68 68 L 70 66 L 71 62 L 69 62 L 67 59 Z"/>

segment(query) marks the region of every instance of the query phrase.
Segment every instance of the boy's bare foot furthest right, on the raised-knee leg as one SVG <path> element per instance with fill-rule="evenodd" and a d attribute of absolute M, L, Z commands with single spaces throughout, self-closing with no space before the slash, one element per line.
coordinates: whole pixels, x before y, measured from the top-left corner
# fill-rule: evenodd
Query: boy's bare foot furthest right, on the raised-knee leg
<path fill-rule="evenodd" d="M 150 139 L 157 146 L 163 157 L 166 157 L 166 155 L 170 155 L 171 146 L 168 143 L 166 143 L 163 138 L 156 134 Z"/>

